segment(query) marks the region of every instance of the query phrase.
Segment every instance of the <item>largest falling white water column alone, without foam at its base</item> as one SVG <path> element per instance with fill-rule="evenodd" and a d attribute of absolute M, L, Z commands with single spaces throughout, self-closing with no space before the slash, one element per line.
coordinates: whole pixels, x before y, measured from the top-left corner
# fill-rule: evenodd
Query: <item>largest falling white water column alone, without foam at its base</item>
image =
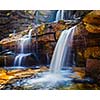
<path fill-rule="evenodd" d="M 59 72 L 65 63 L 68 63 L 75 28 L 76 26 L 61 33 L 50 63 L 51 72 Z"/>

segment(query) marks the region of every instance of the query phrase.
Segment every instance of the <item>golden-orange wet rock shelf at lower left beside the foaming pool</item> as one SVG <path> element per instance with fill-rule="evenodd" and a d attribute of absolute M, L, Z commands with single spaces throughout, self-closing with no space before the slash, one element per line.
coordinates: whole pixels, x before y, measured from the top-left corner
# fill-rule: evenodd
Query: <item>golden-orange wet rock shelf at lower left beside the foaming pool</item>
<path fill-rule="evenodd" d="M 29 78 L 33 76 L 35 77 L 35 75 L 38 74 L 39 72 L 44 72 L 47 70 L 48 68 L 46 66 L 41 66 L 40 69 L 28 68 L 28 69 L 13 69 L 9 71 L 1 68 L 0 69 L 0 89 L 3 89 L 3 88 L 12 89 L 13 87 L 20 88 L 20 86 L 26 82 L 24 80 L 25 78 Z M 24 80 L 25 82 L 22 80 Z"/>

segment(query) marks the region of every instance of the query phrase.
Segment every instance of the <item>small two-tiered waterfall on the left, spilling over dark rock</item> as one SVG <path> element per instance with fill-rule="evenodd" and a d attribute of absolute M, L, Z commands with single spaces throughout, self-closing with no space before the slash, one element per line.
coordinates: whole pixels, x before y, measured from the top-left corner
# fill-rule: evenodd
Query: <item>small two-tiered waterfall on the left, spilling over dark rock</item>
<path fill-rule="evenodd" d="M 21 66 L 22 60 L 31 54 L 30 52 L 26 53 L 25 50 L 25 48 L 31 43 L 31 33 L 32 33 L 32 29 L 29 31 L 28 35 L 23 36 L 18 41 L 18 46 L 20 47 L 20 53 L 15 57 L 14 66 L 16 65 Z"/>

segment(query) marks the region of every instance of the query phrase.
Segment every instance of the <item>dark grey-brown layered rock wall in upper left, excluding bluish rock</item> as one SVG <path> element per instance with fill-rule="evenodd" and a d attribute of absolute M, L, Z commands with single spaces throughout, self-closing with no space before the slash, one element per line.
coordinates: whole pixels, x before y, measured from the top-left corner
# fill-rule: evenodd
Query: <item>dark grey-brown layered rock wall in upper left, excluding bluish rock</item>
<path fill-rule="evenodd" d="M 32 26 L 34 11 L 5 10 L 0 11 L 0 40 L 10 33 L 17 33 Z"/>

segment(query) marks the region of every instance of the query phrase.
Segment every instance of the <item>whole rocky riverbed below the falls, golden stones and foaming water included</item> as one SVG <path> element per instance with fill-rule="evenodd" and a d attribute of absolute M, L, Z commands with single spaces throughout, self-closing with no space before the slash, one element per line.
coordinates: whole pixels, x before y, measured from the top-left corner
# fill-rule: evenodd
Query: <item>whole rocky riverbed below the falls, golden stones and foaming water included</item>
<path fill-rule="evenodd" d="M 66 69 L 66 70 L 65 70 Z M 100 89 L 93 79 L 86 77 L 85 69 L 79 67 L 62 69 L 63 78 L 48 74 L 48 67 L 0 69 L 1 90 L 91 90 Z"/>

